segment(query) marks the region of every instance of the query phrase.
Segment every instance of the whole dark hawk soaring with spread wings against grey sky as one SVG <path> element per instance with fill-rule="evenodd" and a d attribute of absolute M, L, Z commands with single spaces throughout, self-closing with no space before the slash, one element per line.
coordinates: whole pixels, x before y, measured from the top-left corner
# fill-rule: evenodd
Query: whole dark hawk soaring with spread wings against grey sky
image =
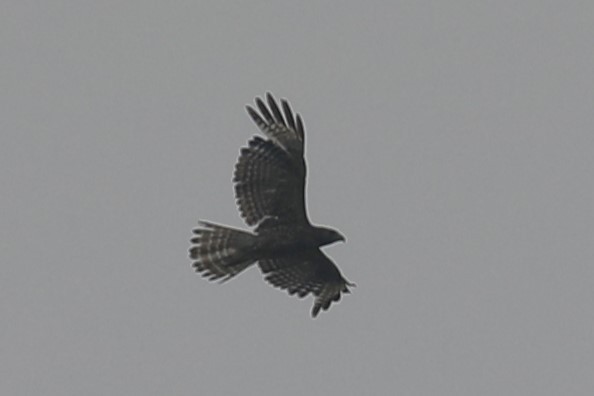
<path fill-rule="evenodd" d="M 345 238 L 309 222 L 305 209 L 305 135 L 299 114 L 286 100 L 281 108 L 270 93 L 247 112 L 266 138 L 253 137 L 241 149 L 233 181 L 239 212 L 253 232 L 207 221 L 193 230 L 190 258 L 208 280 L 227 281 L 258 263 L 265 279 L 290 295 L 315 297 L 315 318 L 349 283 L 320 250 Z"/>

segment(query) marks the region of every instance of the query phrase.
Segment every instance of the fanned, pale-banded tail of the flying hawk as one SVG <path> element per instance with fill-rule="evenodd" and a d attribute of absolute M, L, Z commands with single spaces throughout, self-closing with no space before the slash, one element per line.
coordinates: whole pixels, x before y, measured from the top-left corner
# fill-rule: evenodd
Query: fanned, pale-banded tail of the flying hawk
<path fill-rule="evenodd" d="M 208 280 L 225 282 L 253 264 L 256 235 L 201 221 L 194 229 L 190 258 L 197 272 Z"/>

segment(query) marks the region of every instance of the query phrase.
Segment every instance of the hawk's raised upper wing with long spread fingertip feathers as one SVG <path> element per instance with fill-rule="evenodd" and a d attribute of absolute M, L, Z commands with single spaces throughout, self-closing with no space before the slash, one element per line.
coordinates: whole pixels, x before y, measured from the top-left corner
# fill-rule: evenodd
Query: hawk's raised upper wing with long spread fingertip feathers
<path fill-rule="evenodd" d="M 272 95 L 268 107 L 260 99 L 247 111 L 269 138 L 254 137 L 241 150 L 235 166 L 235 196 L 242 217 L 248 225 L 266 218 L 282 223 L 307 223 L 305 209 L 304 130 L 301 117 L 293 116 L 287 101 L 281 113 Z"/>

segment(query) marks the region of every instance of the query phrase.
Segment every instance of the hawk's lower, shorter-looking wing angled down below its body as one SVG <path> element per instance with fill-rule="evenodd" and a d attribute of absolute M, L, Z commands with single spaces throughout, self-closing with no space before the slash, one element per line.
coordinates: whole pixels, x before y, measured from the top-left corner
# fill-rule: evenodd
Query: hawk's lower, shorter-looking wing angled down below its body
<path fill-rule="evenodd" d="M 315 302 L 311 314 L 314 318 L 320 309 L 327 310 L 333 301 L 339 301 L 341 293 L 350 293 L 348 286 L 354 286 L 319 249 L 293 257 L 260 260 L 259 265 L 265 279 L 273 286 L 291 295 L 297 294 L 299 298 L 313 293 Z"/>

